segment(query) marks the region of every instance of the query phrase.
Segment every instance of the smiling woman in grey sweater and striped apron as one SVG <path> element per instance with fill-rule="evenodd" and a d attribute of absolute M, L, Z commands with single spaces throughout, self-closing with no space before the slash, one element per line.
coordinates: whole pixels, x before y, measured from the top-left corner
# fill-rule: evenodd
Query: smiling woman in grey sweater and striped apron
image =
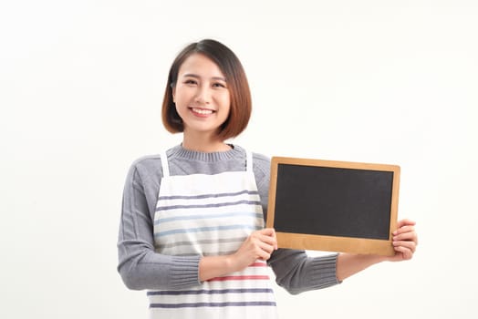
<path fill-rule="evenodd" d="M 151 318 L 275 318 L 267 265 L 302 293 L 415 252 L 409 220 L 393 232 L 393 257 L 277 249 L 264 228 L 270 162 L 225 143 L 250 114 L 244 69 L 228 47 L 203 40 L 176 57 L 162 120 L 182 144 L 133 163 L 120 222 L 118 270 L 128 288 L 149 290 Z"/>

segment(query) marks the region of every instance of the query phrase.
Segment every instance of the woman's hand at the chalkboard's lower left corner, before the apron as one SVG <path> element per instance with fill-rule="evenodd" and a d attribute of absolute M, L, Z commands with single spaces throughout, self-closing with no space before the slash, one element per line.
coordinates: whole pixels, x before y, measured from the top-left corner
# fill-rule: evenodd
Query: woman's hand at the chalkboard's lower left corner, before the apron
<path fill-rule="evenodd" d="M 273 228 L 255 231 L 247 237 L 239 250 L 234 252 L 232 263 L 238 271 L 257 260 L 267 261 L 277 249 L 277 238 Z"/>

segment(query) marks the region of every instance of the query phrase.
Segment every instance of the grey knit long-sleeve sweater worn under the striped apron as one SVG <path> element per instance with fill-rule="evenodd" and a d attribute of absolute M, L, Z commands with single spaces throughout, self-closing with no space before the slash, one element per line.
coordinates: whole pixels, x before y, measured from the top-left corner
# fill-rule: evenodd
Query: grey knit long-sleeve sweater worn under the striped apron
<path fill-rule="evenodd" d="M 171 175 L 217 174 L 245 170 L 245 151 L 203 153 L 176 146 L 167 151 Z M 266 214 L 270 160 L 253 154 L 254 173 Z M 160 190 L 160 156 L 143 157 L 130 168 L 126 180 L 120 235 L 118 271 L 130 289 L 183 289 L 197 286 L 201 256 L 170 256 L 154 251 L 153 221 Z M 337 254 L 309 257 L 304 251 L 279 249 L 268 261 L 276 283 L 289 293 L 325 288 L 338 283 Z"/>

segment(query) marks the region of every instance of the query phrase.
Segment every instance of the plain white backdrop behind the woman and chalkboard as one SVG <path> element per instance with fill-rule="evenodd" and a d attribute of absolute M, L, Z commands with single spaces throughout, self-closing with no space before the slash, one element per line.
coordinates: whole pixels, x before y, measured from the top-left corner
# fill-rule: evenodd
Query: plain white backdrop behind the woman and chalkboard
<path fill-rule="evenodd" d="M 5 1 L 0 5 L 0 317 L 145 318 L 116 272 L 130 163 L 161 125 L 173 57 L 212 37 L 253 91 L 234 140 L 268 156 L 401 166 L 410 262 L 289 295 L 281 318 L 478 314 L 475 1 Z M 310 252 L 317 254 L 319 252 Z"/>

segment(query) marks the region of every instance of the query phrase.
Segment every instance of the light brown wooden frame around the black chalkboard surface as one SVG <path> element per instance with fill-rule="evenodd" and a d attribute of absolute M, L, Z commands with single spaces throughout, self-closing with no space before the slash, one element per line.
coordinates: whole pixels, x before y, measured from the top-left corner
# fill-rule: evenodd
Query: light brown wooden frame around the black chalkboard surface
<path fill-rule="evenodd" d="M 282 165 L 282 167 L 284 167 L 284 165 L 300 165 L 312 168 L 337 168 L 368 171 L 379 170 L 392 172 L 390 226 L 388 230 L 388 239 L 369 239 L 336 235 L 330 236 L 310 233 L 280 232 L 278 230 L 275 230 L 279 247 L 301 250 L 352 252 L 379 255 L 393 255 L 395 253 L 392 246 L 391 232 L 393 232 L 397 227 L 400 166 L 336 160 L 307 160 L 286 157 L 273 157 L 271 159 L 271 178 L 266 221 L 266 226 L 268 228 L 275 228 L 277 170 L 279 165 Z"/>

